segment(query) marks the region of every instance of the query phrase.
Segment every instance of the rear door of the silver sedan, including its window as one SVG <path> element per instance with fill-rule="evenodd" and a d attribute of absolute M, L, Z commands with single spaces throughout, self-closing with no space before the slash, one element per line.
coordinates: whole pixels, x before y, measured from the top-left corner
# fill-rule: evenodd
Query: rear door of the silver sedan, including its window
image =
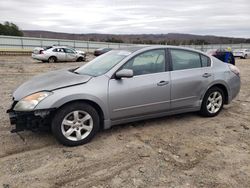
<path fill-rule="evenodd" d="M 198 52 L 170 49 L 171 109 L 200 106 L 201 98 L 213 80 L 210 58 Z"/>

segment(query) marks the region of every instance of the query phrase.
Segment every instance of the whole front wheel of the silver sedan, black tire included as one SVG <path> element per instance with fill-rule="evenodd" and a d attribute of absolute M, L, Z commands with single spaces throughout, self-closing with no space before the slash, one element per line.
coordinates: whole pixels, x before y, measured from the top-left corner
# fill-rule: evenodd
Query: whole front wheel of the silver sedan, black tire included
<path fill-rule="evenodd" d="M 68 104 L 55 114 L 52 133 L 65 146 L 78 146 L 88 143 L 99 130 L 98 112 L 86 103 Z"/>

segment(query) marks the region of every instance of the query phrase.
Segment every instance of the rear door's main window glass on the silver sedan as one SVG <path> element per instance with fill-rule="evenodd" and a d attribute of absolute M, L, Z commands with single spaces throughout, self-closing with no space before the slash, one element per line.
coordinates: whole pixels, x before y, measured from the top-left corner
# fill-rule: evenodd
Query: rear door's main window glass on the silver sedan
<path fill-rule="evenodd" d="M 173 70 L 200 68 L 200 54 L 187 50 L 171 49 Z"/>

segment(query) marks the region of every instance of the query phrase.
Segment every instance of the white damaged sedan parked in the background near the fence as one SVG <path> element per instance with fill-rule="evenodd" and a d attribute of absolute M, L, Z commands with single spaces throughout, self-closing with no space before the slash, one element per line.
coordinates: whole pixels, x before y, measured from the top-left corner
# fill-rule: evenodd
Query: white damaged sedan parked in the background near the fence
<path fill-rule="evenodd" d="M 31 57 L 42 62 L 59 62 L 59 61 L 85 61 L 86 53 L 77 51 L 66 46 L 50 46 L 47 48 L 35 48 Z"/>

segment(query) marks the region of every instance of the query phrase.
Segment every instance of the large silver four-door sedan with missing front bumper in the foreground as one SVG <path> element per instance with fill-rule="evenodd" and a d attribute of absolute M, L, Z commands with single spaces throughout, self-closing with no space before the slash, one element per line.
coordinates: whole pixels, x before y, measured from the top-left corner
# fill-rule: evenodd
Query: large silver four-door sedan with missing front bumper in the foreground
<path fill-rule="evenodd" d="M 239 91 L 234 65 L 187 48 L 136 47 L 34 77 L 14 92 L 8 113 L 13 132 L 51 128 L 75 146 L 117 124 L 194 111 L 216 116 Z"/>

